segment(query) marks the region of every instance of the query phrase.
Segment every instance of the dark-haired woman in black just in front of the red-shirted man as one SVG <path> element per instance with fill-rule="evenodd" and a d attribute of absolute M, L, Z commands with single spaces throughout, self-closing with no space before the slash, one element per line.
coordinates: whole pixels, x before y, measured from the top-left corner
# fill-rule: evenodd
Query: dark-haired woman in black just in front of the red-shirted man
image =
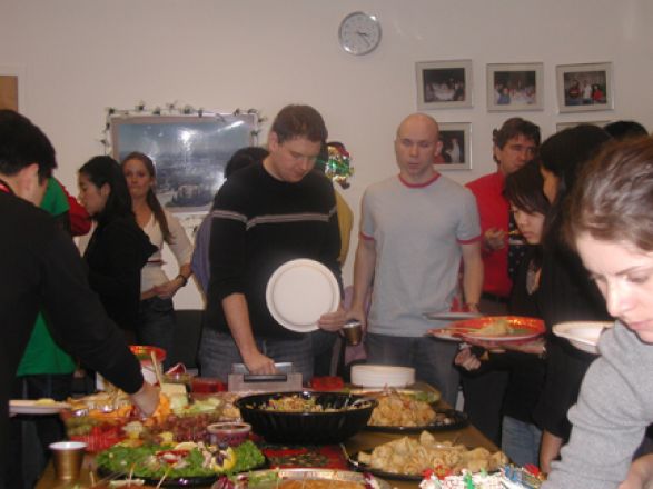
<path fill-rule="evenodd" d="M 541 240 L 550 203 L 542 191 L 543 178 L 537 162 L 530 162 L 506 177 L 505 197 L 523 239 L 528 243 L 511 293 L 508 311 L 515 316 L 540 317 L 537 291 L 542 270 Z M 545 351 L 543 339 L 520 345 L 474 342 L 487 348 L 487 361 L 479 361 L 464 349 L 456 365 L 471 375 L 488 369 L 508 373 L 503 391 L 494 392 L 501 401 L 502 450 L 517 465 L 538 463 L 542 430 L 533 419 L 533 410 L 544 385 Z M 501 350 L 501 352 L 499 352 Z"/>

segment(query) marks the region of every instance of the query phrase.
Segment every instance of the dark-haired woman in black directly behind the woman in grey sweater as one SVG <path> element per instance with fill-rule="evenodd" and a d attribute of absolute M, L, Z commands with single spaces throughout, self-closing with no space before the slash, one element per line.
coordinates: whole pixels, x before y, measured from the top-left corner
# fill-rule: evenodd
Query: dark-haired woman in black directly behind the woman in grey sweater
<path fill-rule="evenodd" d="M 540 462 L 545 472 L 568 439 L 567 410 L 576 401 L 583 376 L 595 359 L 595 356 L 576 350 L 566 340 L 551 335 L 552 328 L 564 321 L 610 319 L 605 302 L 581 258 L 562 239 L 562 209 L 567 196 L 583 164 L 607 140 L 610 136 L 603 129 L 581 124 L 552 136 L 540 147 L 544 193 L 552 202 L 544 224 L 538 295 L 540 310 L 550 333 L 548 358 L 544 390 L 535 409 L 535 420 L 543 428 Z"/>

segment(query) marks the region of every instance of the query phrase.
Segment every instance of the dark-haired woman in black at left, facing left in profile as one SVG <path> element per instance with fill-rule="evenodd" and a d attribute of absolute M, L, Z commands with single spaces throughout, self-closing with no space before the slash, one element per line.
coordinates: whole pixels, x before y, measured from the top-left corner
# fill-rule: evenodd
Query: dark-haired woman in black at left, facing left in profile
<path fill-rule="evenodd" d="M 78 172 L 79 200 L 96 222 L 85 250 L 89 283 L 109 317 L 133 341 L 138 325 L 140 270 L 156 251 L 136 223 L 120 166 L 95 157 Z"/>

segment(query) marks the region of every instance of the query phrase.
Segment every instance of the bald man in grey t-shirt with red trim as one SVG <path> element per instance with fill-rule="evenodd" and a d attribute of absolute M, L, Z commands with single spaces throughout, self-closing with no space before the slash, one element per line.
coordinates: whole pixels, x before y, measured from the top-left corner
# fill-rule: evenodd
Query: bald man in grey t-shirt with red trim
<path fill-rule="evenodd" d="M 477 310 L 483 283 L 481 227 L 472 192 L 433 167 L 439 154 L 437 122 L 414 113 L 399 124 L 399 174 L 370 186 L 364 197 L 349 317 L 367 323 L 368 362 L 409 366 L 418 380 L 454 403 L 455 343 L 425 337 L 424 312 L 452 309 L 463 271 L 464 301 Z M 373 286 L 369 316 L 365 297 Z"/>

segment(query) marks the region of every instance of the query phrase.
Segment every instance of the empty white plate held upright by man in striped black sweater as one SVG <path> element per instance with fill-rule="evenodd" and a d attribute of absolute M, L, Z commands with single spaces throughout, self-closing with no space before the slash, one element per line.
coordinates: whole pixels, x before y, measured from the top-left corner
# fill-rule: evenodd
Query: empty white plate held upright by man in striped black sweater
<path fill-rule="evenodd" d="M 321 315 L 338 309 L 340 288 L 327 267 L 300 258 L 275 270 L 268 280 L 266 301 L 279 325 L 298 332 L 315 331 Z"/>

